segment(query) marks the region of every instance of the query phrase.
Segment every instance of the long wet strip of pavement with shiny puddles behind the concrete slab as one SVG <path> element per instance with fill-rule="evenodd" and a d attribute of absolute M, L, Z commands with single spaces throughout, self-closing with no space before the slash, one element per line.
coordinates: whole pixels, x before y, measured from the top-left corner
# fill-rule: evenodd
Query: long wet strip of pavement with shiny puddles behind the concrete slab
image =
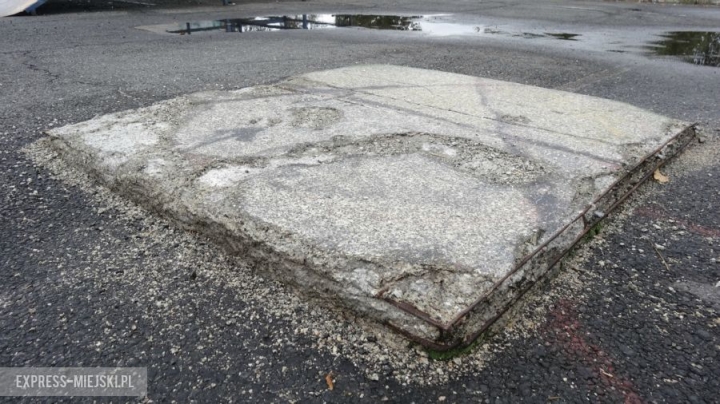
<path fill-rule="evenodd" d="M 632 11 L 639 11 L 633 9 Z M 500 22 L 500 24 L 498 24 Z M 476 40 L 499 36 L 509 39 L 572 41 L 558 45 L 538 41 L 541 46 L 565 46 L 587 51 L 633 53 L 649 56 L 674 56 L 695 65 L 717 67 L 720 63 L 720 33 L 713 31 L 597 30 L 544 32 L 547 25 L 519 26 L 511 21 L 471 17 L 462 14 L 391 15 L 391 14 L 296 14 L 225 18 L 171 24 L 139 26 L 158 34 L 198 35 L 208 33 L 256 33 L 282 30 L 327 30 L 363 28 L 411 32 L 431 37 L 462 36 Z M 528 28 L 535 28 L 528 30 Z M 577 28 L 577 27 L 574 27 Z"/>

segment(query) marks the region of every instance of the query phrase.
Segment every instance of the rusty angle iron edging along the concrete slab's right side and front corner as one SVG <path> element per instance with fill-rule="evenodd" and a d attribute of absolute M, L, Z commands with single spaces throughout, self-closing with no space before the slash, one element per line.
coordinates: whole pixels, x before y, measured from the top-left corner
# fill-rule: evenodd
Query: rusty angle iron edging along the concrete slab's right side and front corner
<path fill-rule="evenodd" d="M 584 210 L 582 210 L 575 218 L 573 218 L 570 222 L 568 222 L 565 226 L 563 226 L 561 229 L 557 230 L 552 236 L 550 236 L 545 242 L 543 242 L 540 246 L 538 246 L 533 252 L 526 255 L 510 272 L 508 272 L 503 278 L 501 278 L 499 281 L 497 281 L 487 292 L 485 292 L 481 297 L 479 297 L 477 300 L 475 300 L 473 303 L 468 305 L 465 309 L 460 311 L 455 317 L 453 317 L 452 320 L 450 320 L 447 323 L 443 323 L 441 321 L 438 321 L 432 316 L 417 307 L 413 306 L 410 303 L 407 302 L 401 302 L 392 299 L 391 297 L 384 297 L 380 296 L 381 299 L 386 301 L 387 303 L 397 307 L 400 310 L 405 311 L 406 313 L 417 317 L 423 321 L 425 321 L 428 324 L 431 324 L 435 327 L 437 327 L 440 330 L 441 335 L 450 333 L 453 331 L 453 329 L 458 326 L 462 320 L 470 314 L 477 306 L 485 302 L 490 298 L 490 296 L 498 289 L 500 288 L 510 277 L 515 275 L 517 272 L 519 272 L 526 264 L 528 264 L 533 258 L 540 255 L 540 253 L 543 252 L 547 248 L 547 246 L 553 242 L 555 239 L 557 239 L 559 236 L 561 236 L 565 231 L 567 231 L 568 228 L 576 224 L 579 220 L 583 221 L 583 231 L 570 243 L 567 248 L 565 248 L 562 252 L 557 254 L 556 257 L 552 258 L 550 263 L 547 265 L 547 267 L 539 274 L 539 277 L 542 277 L 545 273 L 547 273 L 550 269 L 552 269 L 560 260 L 570 251 L 572 250 L 582 239 L 587 235 L 587 233 L 600 221 L 605 219 L 608 214 L 612 211 L 614 211 L 622 202 L 624 202 L 635 190 L 637 190 L 640 185 L 645 183 L 655 172 L 656 169 L 660 168 L 662 165 L 667 163 L 670 158 L 678 155 L 680 152 L 682 152 L 695 138 L 696 135 L 696 125 L 697 124 L 691 124 L 687 126 L 685 129 L 680 131 L 678 134 L 673 136 L 671 139 L 660 145 L 658 148 L 656 148 L 654 151 L 646 155 L 643 159 L 641 159 L 631 170 L 627 171 L 625 175 L 618 178 L 615 182 L 608 187 L 608 189 L 603 192 L 601 195 L 599 195 L 597 198 L 595 198 Z M 686 139 L 685 139 L 686 138 Z M 672 154 L 663 156 L 663 151 L 670 147 L 670 146 L 677 146 L 679 144 L 679 147 L 677 147 Z M 652 165 L 652 163 L 649 162 L 650 159 L 657 158 L 658 162 Z M 619 188 L 622 188 L 625 181 L 630 179 L 633 174 L 637 174 L 640 172 L 643 172 L 644 169 L 647 169 L 648 164 L 651 166 L 649 170 L 643 175 L 643 177 L 638 180 L 636 183 L 630 183 L 630 185 L 633 185 L 632 188 L 629 190 L 624 191 L 620 196 L 615 196 L 617 198 L 614 202 L 612 200 L 613 196 L 610 196 L 610 206 L 607 208 L 607 212 L 603 212 L 600 216 L 596 217 L 595 220 L 588 220 L 586 218 L 586 215 L 588 213 L 594 213 L 591 212 L 595 209 L 595 207 L 602 202 L 602 200 L 608 195 L 612 194 L 613 192 L 616 192 Z M 410 339 L 411 341 L 414 341 L 426 348 L 434 349 L 437 351 L 448 351 L 450 349 L 455 349 L 459 347 L 464 347 L 470 345 L 475 339 L 477 339 L 480 335 L 485 333 L 490 326 L 497 321 L 500 317 L 502 317 L 503 314 L 505 314 L 510 307 L 518 300 L 520 299 L 528 290 L 532 288 L 534 283 L 531 283 L 529 286 L 523 288 L 519 291 L 519 293 L 512 297 L 507 303 L 503 305 L 503 307 L 498 311 L 496 315 L 491 317 L 489 320 L 487 320 L 480 329 L 477 331 L 468 334 L 465 337 L 458 337 L 454 340 L 443 343 L 443 342 L 437 342 L 433 341 L 427 338 L 419 337 L 417 335 L 412 334 L 409 331 L 406 331 L 391 322 L 387 321 L 385 322 L 385 325 L 389 328 L 393 329 L 394 331 L 402 334 L 406 338 Z"/>

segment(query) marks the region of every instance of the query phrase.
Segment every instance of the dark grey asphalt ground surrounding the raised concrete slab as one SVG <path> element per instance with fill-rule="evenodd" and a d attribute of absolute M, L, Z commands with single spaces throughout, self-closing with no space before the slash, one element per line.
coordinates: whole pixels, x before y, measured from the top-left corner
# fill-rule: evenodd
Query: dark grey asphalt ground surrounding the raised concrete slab
<path fill-rule="evenodd" d="M 146 366 L 145 400 L 154 402 L 719 402 L 720 69 L 502 38 L 355 29 L 163 36 L 134 28 L 307 10 L 446 11 L 579 31 L 713 30 L 717 9 L 51 5 L 39 17 L 0 20 L 0 366 Z M 98 114 L 360 63 L 624 101 L 700 123 L 704 142 L 663 169 L 668 183 L 642 187 L 507 328 L 450 361 L 263 278 L 242 257 L 93 187 L 33 146 L 47 128 Z"/>

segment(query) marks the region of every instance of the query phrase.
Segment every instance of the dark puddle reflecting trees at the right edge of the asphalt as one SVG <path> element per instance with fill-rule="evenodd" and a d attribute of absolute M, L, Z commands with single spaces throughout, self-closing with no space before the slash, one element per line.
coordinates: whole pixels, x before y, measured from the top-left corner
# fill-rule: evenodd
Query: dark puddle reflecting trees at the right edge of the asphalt
<path fill-rule="evenodd" d="M 682 56 L 696 65 L 720 67 L 720 32 L 673 31 L 648 47 L 656 55 Z"/>

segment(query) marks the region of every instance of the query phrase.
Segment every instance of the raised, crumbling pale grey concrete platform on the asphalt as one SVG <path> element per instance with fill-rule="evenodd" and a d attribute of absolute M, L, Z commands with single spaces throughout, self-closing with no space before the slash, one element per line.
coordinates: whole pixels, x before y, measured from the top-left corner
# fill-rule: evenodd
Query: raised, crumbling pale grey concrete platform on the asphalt
<path fill-rule="evenodd" d="M 694 135 L 561 91 L 397 66 L 54 129 L 99 182 L 435 349 L 469 343 Z"/>

